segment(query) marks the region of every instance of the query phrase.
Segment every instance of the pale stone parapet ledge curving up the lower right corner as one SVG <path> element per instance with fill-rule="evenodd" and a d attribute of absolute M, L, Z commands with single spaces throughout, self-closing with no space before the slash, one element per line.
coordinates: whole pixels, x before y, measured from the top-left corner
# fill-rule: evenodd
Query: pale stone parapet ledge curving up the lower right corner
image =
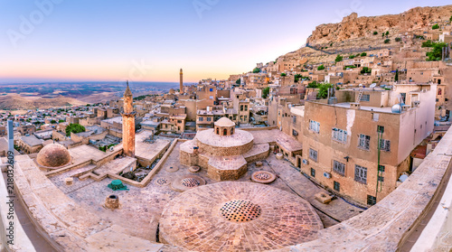
<path fill-rule="evenodd" d="M 277 251 L 396 251 L 421 222 L 428 222 L 428 211 L 441 197 L 450 180 L 452 129 L 414 173 L 386 198 L 362 214 L 328 229 L 318 238 Z M 438 227 L 439 229 L 440 227 Z"/>

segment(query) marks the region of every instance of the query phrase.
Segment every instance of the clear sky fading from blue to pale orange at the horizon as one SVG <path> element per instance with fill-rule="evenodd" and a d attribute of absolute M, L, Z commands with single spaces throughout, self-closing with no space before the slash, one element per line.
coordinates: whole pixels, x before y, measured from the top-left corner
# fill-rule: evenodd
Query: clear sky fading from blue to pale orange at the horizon
<path fill-rule="evenodd" d="M 226 79 L 320 23 L 450 1 L 0 0 L 0 82 Z"/>

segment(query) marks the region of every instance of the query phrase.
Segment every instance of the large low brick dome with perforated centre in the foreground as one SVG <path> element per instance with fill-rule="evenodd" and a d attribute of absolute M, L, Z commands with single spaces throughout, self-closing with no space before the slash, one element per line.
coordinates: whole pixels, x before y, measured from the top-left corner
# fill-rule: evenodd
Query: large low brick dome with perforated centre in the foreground
<path fill-rule="evenodd" d="M 303 243 L 323 229 L 293 193 L 251 182 L 219 182 L 180 194 L 160 219 L 160 236 L 193 251 L 261 251 Z"/>

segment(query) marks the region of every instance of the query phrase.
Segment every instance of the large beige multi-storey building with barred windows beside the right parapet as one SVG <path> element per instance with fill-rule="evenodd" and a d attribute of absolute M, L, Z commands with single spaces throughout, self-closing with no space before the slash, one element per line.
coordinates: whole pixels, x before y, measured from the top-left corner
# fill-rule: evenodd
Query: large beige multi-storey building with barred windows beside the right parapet
<path fill-rule="evenodd" d="M 433 132 L 436 92 L 436 85 L 398 85 L 340 90 L 336 104 L 307 101 L 297 165 L 335 193 L 375 204 L 410 171 L 410 152 Z"/>

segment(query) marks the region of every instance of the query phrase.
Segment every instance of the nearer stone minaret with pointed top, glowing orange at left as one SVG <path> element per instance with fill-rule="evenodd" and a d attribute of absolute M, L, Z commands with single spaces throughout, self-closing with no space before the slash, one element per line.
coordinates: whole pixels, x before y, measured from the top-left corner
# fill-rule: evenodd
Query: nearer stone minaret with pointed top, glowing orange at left
<path fill-rule="evenodd" d="M 135 157 L 135 114 L 132 106 L 133 96 L 132 91 L 127 88 L 124 92 L 124 112 L 122 113 L 122 145 L 124 154 L 130 157 Z"/>

